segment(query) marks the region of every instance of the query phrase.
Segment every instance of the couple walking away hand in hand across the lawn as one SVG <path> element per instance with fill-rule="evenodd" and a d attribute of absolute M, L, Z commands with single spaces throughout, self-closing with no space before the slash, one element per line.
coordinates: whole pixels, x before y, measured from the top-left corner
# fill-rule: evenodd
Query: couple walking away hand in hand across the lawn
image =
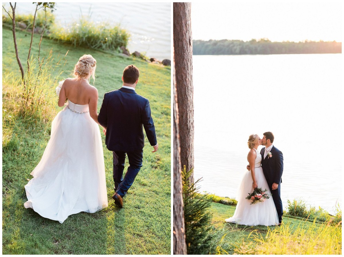
<path fill-rule="evenodd" d="M 25 185 L 28 201 L 43 217 L 63 223 L 69 215 L 94 213 L 108 206 L 103 144 L 113 155 L 115 193 L 112 198 L 122 208 L 123 197 L 142 167 L 144 135 L 157 152 L 158 143 L 148 99 L 136 93 L 139 69 L 129 65 L 123 70 L 123 85 L 104 95 L 99 115 L 98 90 L 89 84 L 95 79 L 96 60 L 83 55 L 73 76 L 61 84 L 58 112 L 52 122 L 50 140 L 39 164 Z M 143 128 L 142 128 L 143 126 Z M 126 155 L 129 167 L 123 178 Z"/>

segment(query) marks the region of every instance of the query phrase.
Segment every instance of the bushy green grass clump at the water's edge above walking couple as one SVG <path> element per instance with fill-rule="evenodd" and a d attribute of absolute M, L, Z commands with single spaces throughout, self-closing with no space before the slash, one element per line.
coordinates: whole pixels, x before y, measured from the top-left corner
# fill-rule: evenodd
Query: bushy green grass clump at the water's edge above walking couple
<path fill-rule="evenodd" d="M 119 51 L 121 46 L 126 47 L 130 38 L 130 34 L 119 25 L 93 22 L 90 16 L 81 16 L 78 21 L 66 28 L 53 26 L 51 32 L 51 38 L 74 46 L 110 51 Z"/>

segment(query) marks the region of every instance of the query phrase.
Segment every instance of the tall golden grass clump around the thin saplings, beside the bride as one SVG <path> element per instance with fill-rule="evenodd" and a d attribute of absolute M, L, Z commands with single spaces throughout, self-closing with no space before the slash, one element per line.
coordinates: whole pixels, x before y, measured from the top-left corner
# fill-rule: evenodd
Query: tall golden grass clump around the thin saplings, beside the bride
<path fill-rule="evenodd" d="M 6 111 L 29 123 L 35 123 L 37 120 L 47 122 L 53 118 L 57 101 L 57 80 L 51 77 L 51 70 L 53 66 L 60 65 L 60 62 L 53 62 L 50 51 L 41 65 L 38 64 L 37 58 L 30 58 L 30 72 L 26 70 L 24 81 L 13 73 L 3 77 L 3 101 L 9 107 Z M 3 120 L 3 123 L 6 127 L 6 120 Z"/>

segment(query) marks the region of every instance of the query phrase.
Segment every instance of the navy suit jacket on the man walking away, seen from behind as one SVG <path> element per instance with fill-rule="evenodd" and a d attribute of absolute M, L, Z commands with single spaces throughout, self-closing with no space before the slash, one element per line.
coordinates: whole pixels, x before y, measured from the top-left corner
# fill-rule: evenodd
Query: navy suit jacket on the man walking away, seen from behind
<path fill-rule="evenodd" d="M 105 93 L 98 122 L 106 127 L 105 144 L 111 151 L 142 150 L 142 125 L 149 143 L 157 144 L 149 101 L 133 89 L 120 88 Z"/>

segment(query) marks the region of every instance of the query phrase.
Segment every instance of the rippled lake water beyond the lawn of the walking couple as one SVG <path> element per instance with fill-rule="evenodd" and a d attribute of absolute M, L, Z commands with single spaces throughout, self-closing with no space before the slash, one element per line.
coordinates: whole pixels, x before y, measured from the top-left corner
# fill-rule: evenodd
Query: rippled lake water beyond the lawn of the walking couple
<path fill-rule="evenodd" d="M 9 3 L 4 3 L 10 9 Z M 16 12 L 33 14 L 35 5 L 17 3 Z M 76 21 L 80 14 L 97 21 L 118 24 L 131 34 L 129 52 L 146 52 L 148 57 L 171 59 L 171 3 L 56 3 L 56 22 L 61 26 Z M 6 14 L 2 11 L 3 14 Z M 7 14 L 6 14 L 7 15 Z"/>

